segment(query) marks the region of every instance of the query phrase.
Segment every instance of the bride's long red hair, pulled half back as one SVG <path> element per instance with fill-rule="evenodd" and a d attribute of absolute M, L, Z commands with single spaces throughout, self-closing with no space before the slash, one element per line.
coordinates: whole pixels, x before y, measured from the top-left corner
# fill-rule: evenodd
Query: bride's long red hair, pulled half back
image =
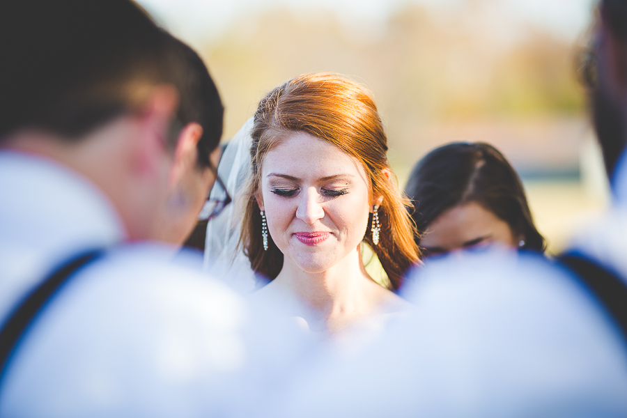
<path fill-rule="evenodd" d="M 370 196 L 383 196 L 378 208 L 379 243 L 373 245 L 370 228 L 364 241 L 378 256 L 391 287 L 397 289 L 403 273 L 420 256 L 413 239 L 415 226 L 406 210 L 410 202 L 398 189 L 396 178 L 388 179 L 383 173 L 389 169 L 387 137 L 369 91 L 336 74 L 301 75 L 274 88 L 259 102 L 251 132 L 252 173 L 240 240 L 251 267 L 269 279 L 277 277 L 283 267 L 283 254 L 270 236 L 268 251 L 263 249 L 261 214 L 255 196 L 261 185 L 263 158 L 293 132 L 306 132 L 328 141 L 362 164 L 371 186 Z"/>

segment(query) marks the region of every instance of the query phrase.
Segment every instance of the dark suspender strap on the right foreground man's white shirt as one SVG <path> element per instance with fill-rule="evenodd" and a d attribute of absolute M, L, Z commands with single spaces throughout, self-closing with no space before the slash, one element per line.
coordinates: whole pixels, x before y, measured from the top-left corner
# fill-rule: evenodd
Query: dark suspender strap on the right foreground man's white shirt
<path fill-rule="evenodd" d="M 627 283 L 624 279 L 579 254 L 562 254 L 557 261 L 575 273 L 603 304 L 627 342 Z"/>

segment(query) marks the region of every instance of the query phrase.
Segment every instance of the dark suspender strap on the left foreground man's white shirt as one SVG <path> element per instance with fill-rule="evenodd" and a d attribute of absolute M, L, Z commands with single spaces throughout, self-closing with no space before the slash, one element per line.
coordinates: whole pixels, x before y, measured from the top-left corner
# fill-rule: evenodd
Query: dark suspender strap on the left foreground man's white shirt
<path fill-rule="evenodd" d="M 102 254 L 104 254 L 103 249 L 94 249 L 71 258 L 53 270 L 13 309 L 0 330 L 0 381 L 4 377 L 11 356 L 15 353 L 15 349 L 28 327 L 75 272 Z"/>

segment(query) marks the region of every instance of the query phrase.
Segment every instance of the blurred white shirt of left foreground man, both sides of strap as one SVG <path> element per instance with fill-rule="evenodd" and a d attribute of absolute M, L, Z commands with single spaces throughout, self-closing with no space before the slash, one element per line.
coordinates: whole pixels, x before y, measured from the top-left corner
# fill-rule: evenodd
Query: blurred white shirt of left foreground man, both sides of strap
<path fill-rule="evenodd" d="M 249 417 L 310 349 L 272 309 L 194 271 L 199 257 L 120 244 L 106 199 L 58 164 L 0 152 L 3 318 L 53 265 L 117 243 L 79 270 L 27 330 L 0 417 Z M 277 302 L 280 306 L 280 302 Z"/>

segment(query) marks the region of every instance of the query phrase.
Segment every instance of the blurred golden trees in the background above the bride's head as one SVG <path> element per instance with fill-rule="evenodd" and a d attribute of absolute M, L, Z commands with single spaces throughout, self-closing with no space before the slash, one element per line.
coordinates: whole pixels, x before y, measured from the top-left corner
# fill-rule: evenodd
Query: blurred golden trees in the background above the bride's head
<path fill-rule="evenodd" d="M 442 17 L 409 5 L 383 27 L 347 28 L 280 9 L 242 17 L 201 52 L 226 102 L 226 138 L 271 88 L 320 70 L 369 86 L 396 144 L 431 123 L 582 114 L 572 45 L 507 24 L 481 10 Z"/>

